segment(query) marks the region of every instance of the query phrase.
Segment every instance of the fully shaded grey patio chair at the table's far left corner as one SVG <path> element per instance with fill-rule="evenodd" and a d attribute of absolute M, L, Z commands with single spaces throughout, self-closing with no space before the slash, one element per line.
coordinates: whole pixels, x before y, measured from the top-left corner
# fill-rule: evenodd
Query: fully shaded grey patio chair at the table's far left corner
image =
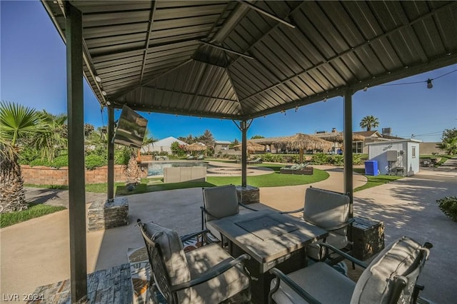
<path fill-rule="evenodd" d="M 244 208 L 242 213 L 256 211 L 256 209 L 238 202 L 238 194 L 234 185 L 203 188 L 203 202 L 204 206 L 200 207 L 201 229 L 208 229 L 219 240 L 222 240 L 222 235 L 211 225 L 211 221 L 240 213 L 239 206 Z"/>

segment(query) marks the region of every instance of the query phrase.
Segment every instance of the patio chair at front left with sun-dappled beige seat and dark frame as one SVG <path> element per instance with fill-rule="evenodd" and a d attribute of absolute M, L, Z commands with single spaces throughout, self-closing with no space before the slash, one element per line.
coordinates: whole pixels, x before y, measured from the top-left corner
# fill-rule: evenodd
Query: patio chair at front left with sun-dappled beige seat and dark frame
<path fill-rule="evenodd" d="M 221 303 L 229 298 L 248 303 L 251 299 L 250 278 L 243 266 L 249 255 L 233 259 L 217 244 L 184 253 L 176 231 L 140 219 L 138 225 L 151 264 L 151 295 L 161 293 L 169 304 Z"/>

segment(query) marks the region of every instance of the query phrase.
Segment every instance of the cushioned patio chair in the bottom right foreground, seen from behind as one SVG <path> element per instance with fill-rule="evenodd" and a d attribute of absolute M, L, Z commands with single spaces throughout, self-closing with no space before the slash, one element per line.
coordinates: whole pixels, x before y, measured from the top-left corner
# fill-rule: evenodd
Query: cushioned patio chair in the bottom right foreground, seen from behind
<path fill-rule="evenodd" d="M 365 268 L 357 283 L 330 265 L 318 262 L 288 275 L 273 268 L 268 303 L 416 303 L 423 286 L 416 285 L 431 243 L 423 246 L 400 238 L 366 266 L 328 244 L 335 253 Z"/>

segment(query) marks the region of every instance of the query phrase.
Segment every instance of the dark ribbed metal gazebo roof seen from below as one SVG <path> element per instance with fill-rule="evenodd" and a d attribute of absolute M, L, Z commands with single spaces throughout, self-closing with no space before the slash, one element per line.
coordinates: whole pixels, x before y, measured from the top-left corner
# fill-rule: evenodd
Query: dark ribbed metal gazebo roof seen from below
<path fill-rule="evenodd" d="M 62 1 L 42 3 L 65 39 Z M 457 1 L 71 4 L 116 108 L 244 120 L 457 63 Z"/>

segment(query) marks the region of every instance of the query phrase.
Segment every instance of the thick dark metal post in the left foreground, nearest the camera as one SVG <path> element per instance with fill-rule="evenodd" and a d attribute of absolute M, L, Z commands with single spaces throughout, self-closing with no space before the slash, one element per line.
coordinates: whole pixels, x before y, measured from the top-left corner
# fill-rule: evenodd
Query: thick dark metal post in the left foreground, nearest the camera
<path fill-rule="evenodd" d="M 71 303 L 87 298 L 82 13 L 65 1 Z"/>

